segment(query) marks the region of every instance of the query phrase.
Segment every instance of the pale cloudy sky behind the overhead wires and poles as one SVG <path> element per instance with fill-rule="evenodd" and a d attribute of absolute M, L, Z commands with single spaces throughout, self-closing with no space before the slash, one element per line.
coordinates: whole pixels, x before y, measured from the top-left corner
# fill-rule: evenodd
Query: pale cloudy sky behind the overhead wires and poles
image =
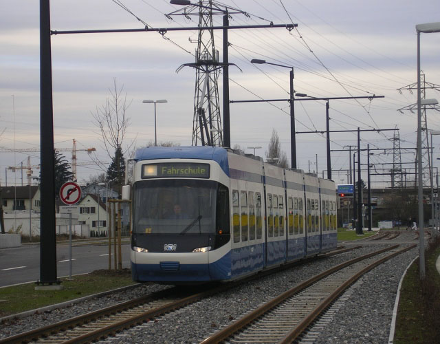
<path fill-rule="evenodd" d="M 233 14 L 230 25 L 297 23 L 285 28 L 229 30 L 230 100 L 289 97 L 289 69 L 252 65 L 252 58 L 294 67 L 294 90 L 314 97 L 384 96 L 373 100 L 330 100 L 330 130 L 396 129 L 364 131 L 361 148 L 392 148 L 399 135 L 401 147 L 416 147 L 417 116 L 399 109 L 417 102 L 417 92 L 403 89 L 417 82 L 415 25 L 440 21 L 438 0 L 420 1 L 296 1 L 223 0 L 226 6 L 248 12 Z M 181 6 L 166 0 L 51 1 L 52 30 L 153 28 L 197 26 L 198 19 L 165 17 Z M 130 10 L 129 13 L 126 9 Z M 138 18 L 138 19 L 137 19 Z M 214 16 L 214 25 L 221 25 Z M 89 155 L 78 151 L 78 182 L 102 173 L 107 155 L 94 114 L 106 99 L 113 80 L 126 97 L 129 127 L 122 144 L 143 147 L 154 140 L 154 107 L 142 100 L 166 99 L 157 104 L 157 141 L 190 145 L 194 111 L 194 62 L 197 31 L 112 34 L 58 34 L 52 36 L 54 146 L 72 158 L 73 139 L 79 150 L 96 148 Z M 222 35 L 214 32 L 214 45 L 222 54 Z M 426 81 L 440 85 L 440 34 L 421 34 L 421 69 Z M 21 172 L 9 166 L 39 165 L 39 1 L 0 1 L 0 183 L 21 185 Z M 222 78 L 219 96 L 222 104 Z M 427 89 L 426 98 L 439 98 Z M 296 97 L 298 99 L 298 97 Z M 223 109 L 221 109 L 223 111 Z M 439 111 L 428 110 L 428 129 L 439 131 Z M 295 102 L 296 131 L 325 131 L 325 102 Z M 290 163 L 289 103 L 232 103 L 231 145 L 265 157 L 274 129 Z M 332 176 L 347 184 L 349 151 L 357 133 L 331 133 Z M 440 137 L 433 136 L 434 167 L 439 166 Z M 12 152 L 10 152 L 12 150 Z M 14 153 L 15 151 L 15 153 Z M 128 154 L 127 151 L 126 154 Z M 374 151 L 371 163 L 377 173 L 390 169 L 393 154 Z M 296 134 L 297 166 L 322 175 L 327 170 L 325 138 L 318 133 Z M 403 168 L 415 160 L 412 151 L 401 154 Z M 100 162 L 100 164 L 96 164 Z M 361 162 L 366 163 L 366 153 Z M 39 170 L 34 168 L 33 175 Z M 23 185 L 27 184 L 23 171 Z M 363 173 L 366 180 L 366 173 Z M 410 177 L 408 177 L 410 178 Z M 7 180 L 6 180 L 7 179 Z M 389 176 L 375 175 L 373 187 L 389 186 Z"/>

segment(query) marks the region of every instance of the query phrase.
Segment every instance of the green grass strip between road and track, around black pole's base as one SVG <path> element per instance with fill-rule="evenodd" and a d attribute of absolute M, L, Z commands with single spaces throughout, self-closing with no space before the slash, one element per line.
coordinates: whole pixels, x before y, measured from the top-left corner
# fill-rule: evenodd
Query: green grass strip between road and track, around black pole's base
<path fill-rule="evenodd" d="M 129 269 L 96 270 L 61 280 L 62 290 L 36 291 L 34 283 L 1 288 L 0 317 L 134 284 Z"/>

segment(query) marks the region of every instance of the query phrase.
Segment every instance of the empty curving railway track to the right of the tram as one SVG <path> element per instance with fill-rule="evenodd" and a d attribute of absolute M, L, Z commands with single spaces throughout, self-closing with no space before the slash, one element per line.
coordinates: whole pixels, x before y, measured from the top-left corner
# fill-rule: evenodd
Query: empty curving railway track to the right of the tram
<path fill-rule="evenodd" d="M 292 343 L 362 275 L 413 247 L 391 246 L 335 266 L 261 305 L 202 344 Z"/>

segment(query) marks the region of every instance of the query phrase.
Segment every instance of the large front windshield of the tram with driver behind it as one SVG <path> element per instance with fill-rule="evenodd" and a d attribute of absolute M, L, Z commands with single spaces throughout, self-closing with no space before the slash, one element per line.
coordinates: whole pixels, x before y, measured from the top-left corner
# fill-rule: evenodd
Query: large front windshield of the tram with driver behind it
<path fill-rule="evenodd" d="M 219 183 L 211 180 L 136 182 L 133 232 L 179 235 L 214 233 L 218 187 Z"/>

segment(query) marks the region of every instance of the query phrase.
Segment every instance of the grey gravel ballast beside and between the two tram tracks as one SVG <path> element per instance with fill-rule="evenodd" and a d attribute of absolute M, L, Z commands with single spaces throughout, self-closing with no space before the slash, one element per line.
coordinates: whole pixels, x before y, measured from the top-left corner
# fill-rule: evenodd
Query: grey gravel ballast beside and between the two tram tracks
<path fill-rule="evenodd" d="M 281 292 L 292 288 L 327 268 L 348 259 L 365 255 L 395 244 L 369 242 L 364 247 L 320 259 L 269 277 L 244 283 L 238 288 L 144 323 L 102 343 L 200 343 L 207 336 L 228 325 L 234 319 L 254 310 Z M 397 286 L 402 273 L 418 254 L 417 248 L 387 261 L 364 275 L 350 287 L 351 296 L 342 304 L 331 323 L 325 326 L 314 343 L 386 343 L 390 332 Z M 25 319 L 2 324 L 0 338 L 32 330 L 69 317 L 92 312 L 144 294 L 169 288 L 148 285 L 124 292 L 90 299 L 67 308 L 33 314 Z"/>

